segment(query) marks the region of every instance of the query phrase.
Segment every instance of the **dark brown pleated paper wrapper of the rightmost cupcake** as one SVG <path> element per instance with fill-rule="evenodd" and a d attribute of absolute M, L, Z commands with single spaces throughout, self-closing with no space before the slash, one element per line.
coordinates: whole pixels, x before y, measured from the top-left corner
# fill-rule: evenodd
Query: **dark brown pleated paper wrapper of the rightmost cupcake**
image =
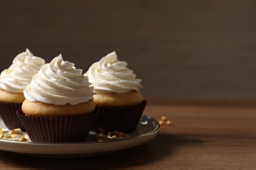
<path fill-rule="evenodd" d="M 127 107 L 96 107 L 99 114 L 93 130 L 103 128 L 105 131 L 122 131 L 125 133 L 134 131 L 145 107 L 146 101 L 140 105 Z"/>

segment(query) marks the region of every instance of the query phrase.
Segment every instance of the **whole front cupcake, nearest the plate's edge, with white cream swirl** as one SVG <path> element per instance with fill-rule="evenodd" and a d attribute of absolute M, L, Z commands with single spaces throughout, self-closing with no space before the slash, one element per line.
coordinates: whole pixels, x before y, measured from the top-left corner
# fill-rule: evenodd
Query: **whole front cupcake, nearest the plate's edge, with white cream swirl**
<path fill-rule="evenodd" d="M 87 76 L 61 55 L 41 67 L 24 96 L 16 114 L 32 142 L 83 142 L 98 115 Z"/>

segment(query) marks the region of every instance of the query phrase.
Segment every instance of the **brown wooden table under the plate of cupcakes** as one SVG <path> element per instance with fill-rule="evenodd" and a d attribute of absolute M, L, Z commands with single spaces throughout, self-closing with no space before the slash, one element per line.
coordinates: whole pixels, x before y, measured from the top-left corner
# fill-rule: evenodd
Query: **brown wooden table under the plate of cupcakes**
<path fill-rule="evenodd" d="M 256 103 L 148 99 L 144 114 L 167 116 L 153 141 L 104 156 L 49 159 L 0 151 L 0 169 L 255 169 Z"/>

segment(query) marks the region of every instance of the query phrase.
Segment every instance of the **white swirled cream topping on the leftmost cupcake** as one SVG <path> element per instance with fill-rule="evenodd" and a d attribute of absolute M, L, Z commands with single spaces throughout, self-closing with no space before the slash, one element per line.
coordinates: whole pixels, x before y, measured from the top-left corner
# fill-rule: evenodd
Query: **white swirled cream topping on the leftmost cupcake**
<path fill-rule="evenodd" d="M 27 48 L 26 52 L 18 54 L 13 59 L 9 69 L 2 71 L 0 88 L 11 93 L 22 93 L 44 63 L 43 58 L 33 56 Z"/>

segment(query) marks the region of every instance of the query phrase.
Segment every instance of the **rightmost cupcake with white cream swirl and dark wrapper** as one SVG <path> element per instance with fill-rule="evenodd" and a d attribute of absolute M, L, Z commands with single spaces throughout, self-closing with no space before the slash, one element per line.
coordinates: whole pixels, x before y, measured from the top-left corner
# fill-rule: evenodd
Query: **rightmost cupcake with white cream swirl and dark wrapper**
<path fill-rule="evenodd" d="M 127 68 L 127 62 L 119 61 L 112 52 L 93 63 L 85 75 L 93 84 L 99 112 L 94 128 L 125 133 L 135 130 L 146 101 L 139 92 L 141 80 Z"/>

